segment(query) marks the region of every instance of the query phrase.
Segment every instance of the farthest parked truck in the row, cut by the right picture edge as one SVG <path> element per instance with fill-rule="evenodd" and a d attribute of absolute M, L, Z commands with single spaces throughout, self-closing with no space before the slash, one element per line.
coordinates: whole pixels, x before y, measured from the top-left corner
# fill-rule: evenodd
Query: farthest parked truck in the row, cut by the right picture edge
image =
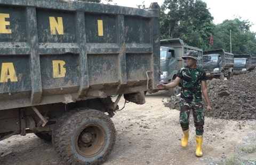
<path fill-rule="evenodd" d="M 235 54 L 234 63 L 235 75 L 251 72 L 256 67 L 256 57 L 251 54 Z"/>

